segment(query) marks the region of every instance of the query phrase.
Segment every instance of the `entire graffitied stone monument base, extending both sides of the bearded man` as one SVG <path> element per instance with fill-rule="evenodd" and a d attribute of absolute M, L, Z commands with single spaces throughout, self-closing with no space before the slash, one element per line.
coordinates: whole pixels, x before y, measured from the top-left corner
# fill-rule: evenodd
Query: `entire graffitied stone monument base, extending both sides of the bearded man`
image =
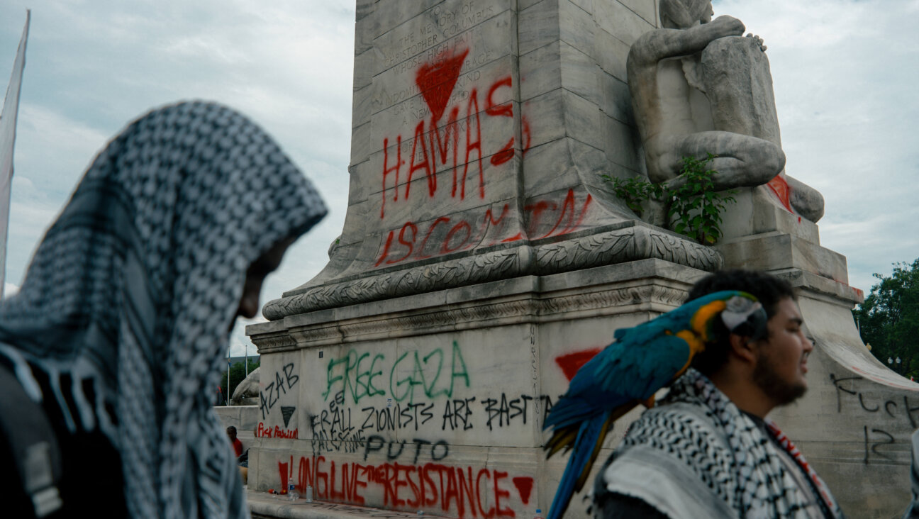
<path fill-rule="evenodd" d="M 788 278 L 815 339 L 808 394 L 771 418 L 849 516 L 900 513 L 910 498 L 919 384 L 861 344 L 850 312 L 857 289 L 800 268 L 808 258 L 836 257 L 843 265 L 835 271 L 845 274 L 845 259 L 770 232 L 719 249 L 727 266 L 772 265 Z M 772 259 L 757 264 L 763 257 Z M 681 304 L 704 275 L 648 259 L 252 326 L 263 355 L 259 406 L 235 419 L 241 437 L 253 438 L 249 489 L 288 481 L 301 493 L 312 486 L 319 501 L 450 517 L 546 511 L 566 457 L 545 459 L 542 423 L 574 371 L 616 329 Z M 600 460 L 639 412 L 617 423 Z M 566 517 L 586 516 L 583 495 Z"/>

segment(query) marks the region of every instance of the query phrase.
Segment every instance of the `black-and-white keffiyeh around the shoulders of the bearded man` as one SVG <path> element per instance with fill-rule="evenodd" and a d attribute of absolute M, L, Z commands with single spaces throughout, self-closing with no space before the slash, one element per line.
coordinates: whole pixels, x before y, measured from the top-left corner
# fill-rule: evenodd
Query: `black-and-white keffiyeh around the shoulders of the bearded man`
<path fill-rule="evenodd" d="M 823 480 L 774 423 L 760 427 L 690 368 L 659 406 L 631 424 L 598 476 L 596 501 L 613 492 L 671 517 L 808 519 L 807 498 L 777 446 L 806 474 L 823 516 L 843 517 Z"/>

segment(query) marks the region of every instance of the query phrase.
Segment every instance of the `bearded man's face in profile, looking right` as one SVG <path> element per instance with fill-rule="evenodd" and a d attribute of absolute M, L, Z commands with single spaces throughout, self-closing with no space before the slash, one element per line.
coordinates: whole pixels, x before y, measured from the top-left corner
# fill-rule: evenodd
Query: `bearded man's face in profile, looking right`
<path fill-rule="evenodd" d="M 807 391 L 807 358 L 813 350 L 802 329 L 798 304 L 781 299 L 767 323 L 768 336 L 756 341 L 754 383 L 775 401 L 789 404 Z"/>

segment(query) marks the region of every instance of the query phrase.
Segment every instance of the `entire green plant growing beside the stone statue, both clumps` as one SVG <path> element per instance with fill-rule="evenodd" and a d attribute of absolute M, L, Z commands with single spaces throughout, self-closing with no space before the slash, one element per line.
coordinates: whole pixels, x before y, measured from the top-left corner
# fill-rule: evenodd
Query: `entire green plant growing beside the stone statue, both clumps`
<path fill-rule="evenodd" d="M 704 159 L 683 157 L 683 170 L 680 177 L 682 185 L 671 189 L 669 186 L 652 184 L 639 178 L 615 178 L 601 175 L 612 183 L 613 192 L 639 217 L 642 204 L 648 199 L 666 202 L 667 222 L 671 229 L 686 235 L 698 243 L 707 245 L 716 243 L 721 237 L 721 212 L 728 202 L 736 202 L 732 193 L 721 195 L 714 190 L 711 180 L 716 171 L 708 169 L 709 163 L 716 157 L 711 153 Z"/>

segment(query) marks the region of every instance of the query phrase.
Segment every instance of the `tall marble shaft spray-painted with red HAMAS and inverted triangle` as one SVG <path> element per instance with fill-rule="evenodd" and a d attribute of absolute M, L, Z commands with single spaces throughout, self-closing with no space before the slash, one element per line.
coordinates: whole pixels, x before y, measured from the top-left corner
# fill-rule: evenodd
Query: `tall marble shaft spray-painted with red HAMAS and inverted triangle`
<path fill-rule="evenodd" d="M 345 227 L 323 272 L 269 303 L 269 319 L 318 310 L 307 292 L 357 302 L 441 288 L 414 281 L 432 268 L 465 273 L 448 286 L 535 273 L 528 258 L 549 238 L 603 248 L 610 225 L 635 219 L 600 175 L 642 173 L 625 62 L 630 43 L 656 27 L 655 9 L 652 0 L 358 6 Z M 524 256 L 513 272 L 495 260 L 512 248 Z M 670 259 L 720 264 L 709 256 Z M 553 257 L 541 273 L 588 266 L 576 261 L 584 254 Z M 413 281 L 363 289 L 400 270 Z"/>

